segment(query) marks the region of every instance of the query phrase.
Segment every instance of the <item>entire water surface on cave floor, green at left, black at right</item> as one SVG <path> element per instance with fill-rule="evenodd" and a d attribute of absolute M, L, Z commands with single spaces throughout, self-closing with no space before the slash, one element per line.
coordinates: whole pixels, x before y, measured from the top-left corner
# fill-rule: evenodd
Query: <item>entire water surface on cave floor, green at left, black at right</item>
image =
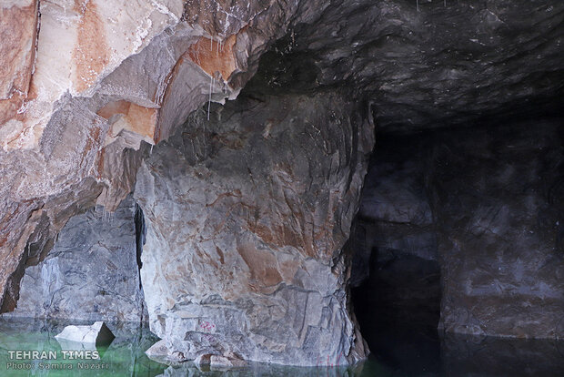
<path fill-rule="evenodd" d="M 438 339 L 427 330 L 406 326 L 380 328 L 372 337 L 375 354 L 367 362 L 350 367 L 297 368 L 251 364 L 237 371 L 198 369 L 191 363 L 166 366 L 149 360 L 145 351 L 156 338 L 135 324 L 111 323 L 116 339 L 97 350 L 98 361 L 61 360 L 64 350 L 55 335 L 70 323 L 0 320 L 0 376 L 562 376 L 564 341 L 509 340 L 448 336 Z M 74 321 L 72 324 L 85 324 Z M 57 352 L 58 360 L 15 361 L 9 351 Z M 30 370 L 7 369 L 9 362 L 30 364 Z M 47 370 L 44 364 L 72 364 L 73 370 Z M 102 364 L 104 370 L 78 369 L 79 363 Z M 84 365 L 83 365 L 84 366 Z"/>

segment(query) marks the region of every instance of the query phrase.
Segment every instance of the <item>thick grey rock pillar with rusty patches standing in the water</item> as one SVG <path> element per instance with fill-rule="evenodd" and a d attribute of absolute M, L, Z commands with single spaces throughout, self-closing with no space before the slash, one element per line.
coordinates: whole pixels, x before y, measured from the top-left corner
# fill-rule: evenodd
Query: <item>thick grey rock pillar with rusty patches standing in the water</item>
<path fill-rule="evenodd" d="M 341 253 L 373 143 L 361 114 L 336 93 L 246 97 L 209 121 L 199 111 L 146 158 L 141 274 L 170 358 L 364 357 Z"/>

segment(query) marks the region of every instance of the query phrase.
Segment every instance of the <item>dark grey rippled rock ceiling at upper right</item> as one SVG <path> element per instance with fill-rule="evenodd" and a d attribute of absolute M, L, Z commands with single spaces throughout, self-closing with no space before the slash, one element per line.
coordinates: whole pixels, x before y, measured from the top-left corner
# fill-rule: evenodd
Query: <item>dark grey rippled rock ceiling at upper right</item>
<path fill-rule="evenodd" d="M 370 98 L 387 133 L 562 107 L 559 0 L 337 0 L 317 15 L 288 47 L 313 56 L 321 86 Z"/>

